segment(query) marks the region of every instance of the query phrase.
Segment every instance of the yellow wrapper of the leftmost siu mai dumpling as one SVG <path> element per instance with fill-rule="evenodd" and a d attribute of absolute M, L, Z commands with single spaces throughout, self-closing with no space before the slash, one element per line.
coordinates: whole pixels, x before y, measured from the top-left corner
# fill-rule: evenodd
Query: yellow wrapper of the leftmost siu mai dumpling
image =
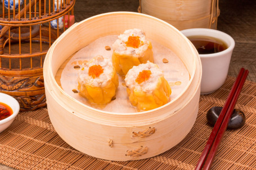
<path fill-rule="evenodd" d="M 107 81 L 104 86 L 93 86 L 92 84 L 86 84 L 82 81 L 78 81 L 79 94 L 87 98 L 91 103 L 109 103 L 111 99 L 115 97 L 119 84 L 118 75 L 116 74 L 114 67 L 112 70 L 111 80 Z"/>

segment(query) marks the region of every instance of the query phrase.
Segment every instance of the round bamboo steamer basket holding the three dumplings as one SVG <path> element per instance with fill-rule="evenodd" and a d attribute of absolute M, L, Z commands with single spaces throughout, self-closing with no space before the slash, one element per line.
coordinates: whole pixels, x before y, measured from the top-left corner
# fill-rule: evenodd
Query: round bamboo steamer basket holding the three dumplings
<path fill-rule="evenodd" d="M 165 45 L 183 61 L 190 80 L 185 90 L 162 107 L 138 113 L 112 113 L 71 98 L 55 79 L 62 63 L 97 38 L 140 28 L 149 39 Z M 81 21 L 62 34 L 44 61 L 47 108 L 57 133 L 73 148 L 108 160 L 153 157 L 177 145 L 196 120 L 201 62 L 189 40 L 176 28 L 142 13 L 111 12 Z"/>

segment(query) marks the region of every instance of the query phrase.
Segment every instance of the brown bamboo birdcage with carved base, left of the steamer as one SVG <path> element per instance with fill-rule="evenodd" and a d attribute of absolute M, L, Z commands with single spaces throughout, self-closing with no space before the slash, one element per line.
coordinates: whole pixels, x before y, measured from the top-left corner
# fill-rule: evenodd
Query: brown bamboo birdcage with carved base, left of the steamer
<path fill-rule="evenodd" d="M 16 98 L 21 111 L 46 105 L 44 57 L 70 25 L 69 19 L 65 25 L 60 19 L 73 15 L 74 4 L 75 0 L 3 0 L 0 6 L 0 91 Z"/>

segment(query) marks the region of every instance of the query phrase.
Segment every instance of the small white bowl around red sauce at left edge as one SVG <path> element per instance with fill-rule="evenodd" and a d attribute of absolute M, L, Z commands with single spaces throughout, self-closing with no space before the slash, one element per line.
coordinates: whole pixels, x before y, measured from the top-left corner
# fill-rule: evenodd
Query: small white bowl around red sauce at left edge
<path fill-rule="evenodd" d="M 0 93 L 0 102 L 9 105 L 12 108 L 12 115 L 0 121 L 0 133 L 4 131 L 14 121 L 20 111 L 20 104 L 17 100 L 8 94 Z"/>

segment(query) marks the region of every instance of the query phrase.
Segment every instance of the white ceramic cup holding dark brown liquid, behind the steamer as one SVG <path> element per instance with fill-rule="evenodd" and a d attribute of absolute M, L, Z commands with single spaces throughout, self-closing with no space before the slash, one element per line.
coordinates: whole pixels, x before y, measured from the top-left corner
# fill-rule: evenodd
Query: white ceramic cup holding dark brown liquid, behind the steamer
<path fill-rule="evenodd" d="M 230 59 L 235 47 L 233 38 L 222 31 L 213 29 L 187 29 L 182 30 L 185 36 L 211 36 L 227 44 L 227 49 L 213 54 L 199 54 L 202 63 L 201 94 L 213 93 L 221 88 L 226 80 Z"/>

